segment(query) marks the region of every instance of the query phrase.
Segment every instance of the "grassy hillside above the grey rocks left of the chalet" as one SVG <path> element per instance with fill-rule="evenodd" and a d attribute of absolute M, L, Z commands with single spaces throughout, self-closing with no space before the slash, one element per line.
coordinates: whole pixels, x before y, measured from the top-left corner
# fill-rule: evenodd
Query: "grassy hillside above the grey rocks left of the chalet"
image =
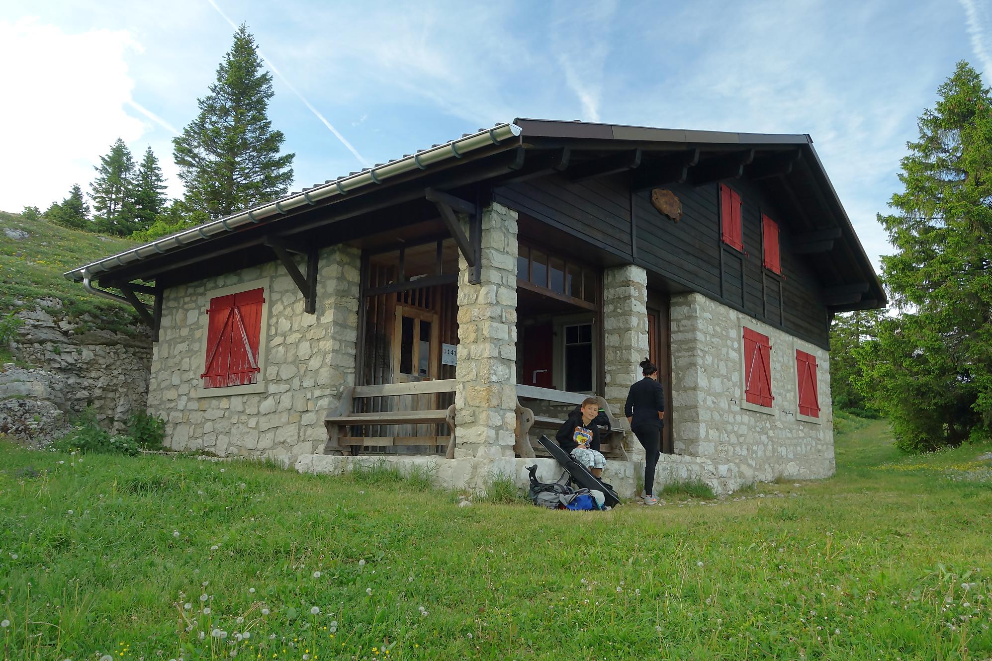
<path fill-rule="evenodd" d="M 29 239 L 8 238 L 4 228 L 22 229 Z M 135 244 L 119 237 L 70 230 L 41 218 L 25 220 L 0 211 L 0 313 L 33 308 L 39 298 L 62 300 L 61 316 L 88 314 L 97 326 L 129 330 L 137 316 L 129 306 L 90 295 L 82 285 L 62 277 L 70 269 L 108 257 Z"/>

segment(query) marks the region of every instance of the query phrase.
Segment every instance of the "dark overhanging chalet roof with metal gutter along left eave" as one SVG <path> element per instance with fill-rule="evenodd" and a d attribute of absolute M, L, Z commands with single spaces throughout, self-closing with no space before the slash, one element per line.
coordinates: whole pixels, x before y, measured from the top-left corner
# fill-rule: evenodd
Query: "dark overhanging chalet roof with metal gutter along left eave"
<path fill-rule="evenodd" d="M 785 163 L 787 167 L 777 173 L 774 179 L 777 183 L 773 185 L 781 188 L 782 196 L 791 199 L 799 212 L 805 213 L 799 207 L 812 209 L 809 217 L 804 219 L 808 229 L 839 232 L 841 253 L 836 265 L 827 265 L 833 274 L 829 278 L 830 283 L 841 287 L 857 284 L 867 289 L 860 296 L 860 301 L 852 303 L 848 299 L 838 299 L 832 305 L 827 301 L 828 306 L 842 311 L 881 307 L 886 303 L 884 289 L 808 135 L 693 131 L 527 118 L 465 134 L 385 164 L 328 179 L 272 202 L 158 239 L 63 275 L 88 284 L 90 278 L 112 283 L 163 273 L 171 263 L 176 263 L 177 268 L 182 266 L 178 256 L 183 255 L 183 262 L 188 264 L 201 254 L 201 250 L 206 250 L 207 244 L 220 246 L 233 242 L 235 235 L 247 236 L 244 231 L 252 227 L 275 224 L 281 232 L 299 232 L 320 222 L 334 222 L 335 209 L 338 208 L 348 208 L 348 215 L 342 212 L 339 216 L 344 218 L 355 216 L 355 209 L 359 206 L 375 208 L 378 203 L 381 207 L 385 196 L 392 194 L 395 197 L 395 191 L 404 186 L 409 189 L 405 197 L 396 199 L 412 199 L 419 194 L 418 190 L 423 191 L 424 185 L 443 185 L 448 181 L 452 186 L 464 185 L 469 181 L 519 171 L 524 167 L 525 154 L 553 154 L 556 150 L 581 154 L 586 164 L 609 155 L 620 158 L 624 152 L 636 153 L 638 164 L 641 163 L 642 152 L 646 160 L 655 159 L 655 163 L 661 163 L 693 150 L 713 157 L 709 163 L 714 163 L 715 157 L 721 155 L 733 160 L 739 155 L 750 155 L 749 159 L 754 159 L 756 154 L 761 155 L 761 161 L 755 162 L 755 166 Z M 514 153 L 516 162 L 503 158 Z M 490 165 L 498 159 L 502 159 L 498 165 Z M 752 162 L 749 160 L 747 163 Z M 430 183 L 431 177 L 441 183 Z M 387 190 L 394 192 L 387 193 Z M 420 194 L 423 196 L 422 192 Z M 359 205 L 358 199 L 364 202 Z M 323 220 L 301 223 L 301 214 L 309 211 L 319 211 Z M 257 243 L 261 242 L 262 239 L 259 239 Z M 194 248 L 197 246 L 202 248 Z M 155 269 L 146 268 L 146 264 L 147 267 L 154 264 Z"/>

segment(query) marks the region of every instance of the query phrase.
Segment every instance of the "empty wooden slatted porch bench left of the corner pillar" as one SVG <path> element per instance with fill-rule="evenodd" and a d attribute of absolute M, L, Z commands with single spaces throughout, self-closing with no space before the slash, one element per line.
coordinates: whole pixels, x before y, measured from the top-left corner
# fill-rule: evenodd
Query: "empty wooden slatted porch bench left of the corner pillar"
<path fill-rule="evenodd" d="M 454 457 L 454 404 L 432 410 L 356 412 L 356 404 L 367 397 L 406 396 L 454 392 L 455 381 L 422 381 L 410 384 L 354 386 L 344 390 L 336 410 L 324 417 L 327 440 L 318 454 L 352 454 L 351 447 L 390 447 L 400 445 L 447 445 L 446 456 Z M 448 436 L 348 436 L 348 427 L 365 425 L 446 424 Z"/>

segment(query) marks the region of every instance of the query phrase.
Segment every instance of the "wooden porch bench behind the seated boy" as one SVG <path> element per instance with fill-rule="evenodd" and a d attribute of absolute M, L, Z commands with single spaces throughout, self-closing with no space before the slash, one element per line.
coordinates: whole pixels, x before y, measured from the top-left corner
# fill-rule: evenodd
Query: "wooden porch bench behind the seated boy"
<path fill-rule="evenodd" d="M 548 434 L 552 438 L 564 424 L 567 416 L 553 417 L 548 415 L 535 415 L 534 411 L 521 403 L 521 397 L 530 399 L 543 399 L 553 404 L 570 404 L 578 406 L 588 397 L 587 394 L 575 394 L 565 390 L 555 390 L 549 387 L 524 386 L 517 384 L 517 443 L 514 452 L 521 457 L 549 456 L 540 444 L 531 442 L 530 431 L 534 427 L 554 430 Z M 623 447 L 624 432 L 627 429 L 626 420 L 620 420 L 613 415 L 610 405 L 603 397 L 596 397 L 599 407 L 606 413 L 610 421 L 610 430 L 602 432 L 599 439 L 599 450 L 607 459 L 627 460 L 627 452 Z"/>

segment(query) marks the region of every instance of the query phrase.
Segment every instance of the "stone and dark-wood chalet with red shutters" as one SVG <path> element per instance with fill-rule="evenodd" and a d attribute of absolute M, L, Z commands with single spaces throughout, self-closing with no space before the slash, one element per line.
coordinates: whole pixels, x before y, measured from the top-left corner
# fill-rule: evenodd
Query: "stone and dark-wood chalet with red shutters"
<path fill-rule="evenodd" d="M 154 329 L 148 409 L 177 450 L 524 485 L 558 477 L 536 438 L 591 394 L 625 496 L 645 357 L 660 485 L 831 475 L 828 325 L 885 304 L 808 136 L 531 119 L 65 276 Z"/>

